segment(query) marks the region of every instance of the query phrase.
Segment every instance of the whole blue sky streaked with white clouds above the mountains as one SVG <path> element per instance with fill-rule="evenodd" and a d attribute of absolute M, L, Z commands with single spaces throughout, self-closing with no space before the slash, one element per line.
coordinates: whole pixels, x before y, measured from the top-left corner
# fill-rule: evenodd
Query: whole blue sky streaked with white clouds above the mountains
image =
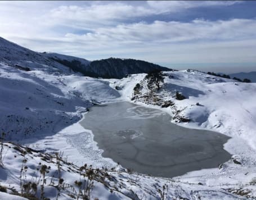
<path fill-rule="evenodd" d="M 0 1 L 0 37 L 38 52 L 256 71 L 256 1 Z"/>

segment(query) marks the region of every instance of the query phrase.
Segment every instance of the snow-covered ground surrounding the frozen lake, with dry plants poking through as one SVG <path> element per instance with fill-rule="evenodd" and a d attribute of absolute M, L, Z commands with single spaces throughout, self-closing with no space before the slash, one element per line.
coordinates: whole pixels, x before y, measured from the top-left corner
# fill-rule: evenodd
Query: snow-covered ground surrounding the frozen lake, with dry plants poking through
<path fill-rule="evenodd" d="M 99 172 L 101 175 L 93 179 L 92 199 L 161 199 L 165 184 L 168 191 L 165 189 L 164 198 L 167 199 L 256 197 L 255 83 L 238 83 L 194 70 L 167 72 L 165 83 L 155 97 L 162 102 L 172 101 L 174 105 L 161 108 L 157 105 L 158 100 L 145 98 L 150 93 L 143 80 L 145 74 L 131 75 L 122 80 L 94 79 L 39 69 L 23 71 L 8 66 L 8 63 L 0 65 L 0 129 L 6 134 L 6 140 L 42 150 L 29 153 L 25 149 L 28 153 L 24 154 L 15 144 L 5 143 L 0 185 L 14 187 L 20 192 L 20 169 L 25 156 L 28 169 L 26 179 L 25 175 L 22 179 L 38 181 L 40 172 L 37 169 L 44 164 L 50 166 L 44 192 L 45 197 L 56 199 L 57 161 L 52 153 L 62 151 L 61 177 L 67 185 L 80 180 L 79 167 L 85 163 L 92 165 L 93 169 L 104 167 Z M 165 179 L 128 173 L 110 158 L 102 158 L 93 134 L 79 121 L 93 103 L 131 101 L 137 83 L 143 88 L 133 102 L 168 112 L 174 116 L 174 123 L 178 123 L 180 117 L 191 120 L 178 125 L 230 136 L 224 148 L 233 159 L 222 163 L 220 169 L 194 171 Z M 186 99 L 175 99 L 176 91 Z M 102 175 L 104 173 L 108 175 Z M 79 188 L 75 189 L 78 192 Z M 11 193 L 11 190 L 7 189 L 7 192 Z M 59 199 L 71 199 L 72 194 L 75 195 L 74 189 L 65 187 L 61 189 Z M 0 199 L 21 198 L 0 192 Z"/>

